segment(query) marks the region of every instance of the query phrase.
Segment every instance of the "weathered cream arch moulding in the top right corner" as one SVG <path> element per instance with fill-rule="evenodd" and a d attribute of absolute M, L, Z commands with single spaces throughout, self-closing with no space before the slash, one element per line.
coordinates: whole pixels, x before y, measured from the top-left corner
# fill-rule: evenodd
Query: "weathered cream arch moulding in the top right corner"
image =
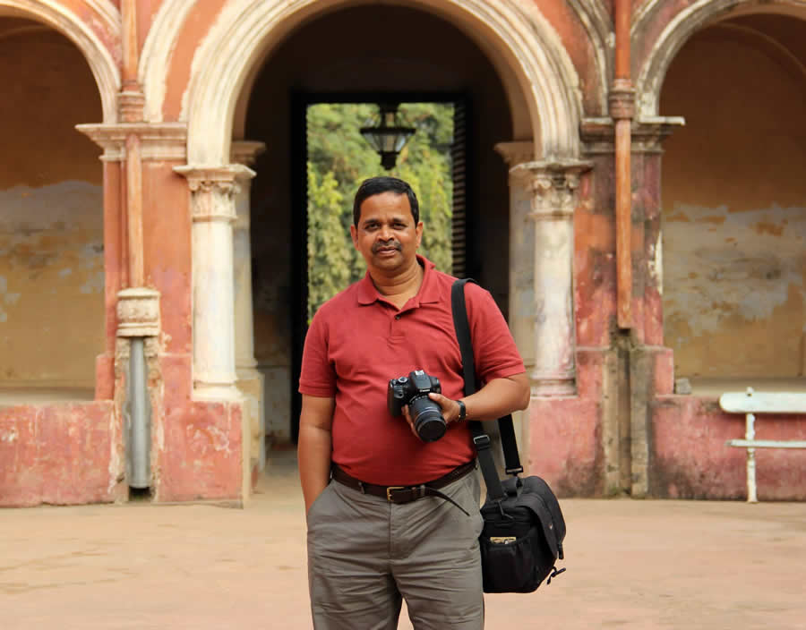
<path fill-rule="evenodd" d="M 633 21 L 631 32 L 647 30 L 656 17 L 660 0 L 647 3 Z M 709 22 L 748 13 L 785 13 L 806 17 L 806 4 L 800 0 L 698 0 L 677 13 L 657 38 L 636 82 L 640 118 L 658 115 L 660 92 L 666 71 L 683 44 Z"/>

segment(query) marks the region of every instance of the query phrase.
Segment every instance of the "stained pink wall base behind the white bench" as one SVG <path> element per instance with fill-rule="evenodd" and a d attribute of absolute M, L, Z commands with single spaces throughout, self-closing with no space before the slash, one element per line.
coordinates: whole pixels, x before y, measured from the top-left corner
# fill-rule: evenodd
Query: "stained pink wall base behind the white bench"
<path fill-rule="evenodd" d="M 723 413 L 716 398 L 661 396 L 652 410 L 650 492 L 662 498 L 746 499 L 744 416 Z M 757 439 L 806 439 L 806 415 L 756 417 Z M 806 452 L 756 449 L 761 501 L 806 500 Z"/>

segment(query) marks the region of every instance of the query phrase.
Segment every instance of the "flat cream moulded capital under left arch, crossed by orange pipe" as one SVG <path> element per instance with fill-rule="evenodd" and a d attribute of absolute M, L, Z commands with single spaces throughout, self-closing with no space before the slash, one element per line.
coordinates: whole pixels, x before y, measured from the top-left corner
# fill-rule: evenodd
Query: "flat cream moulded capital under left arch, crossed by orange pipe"
<path fill-rule="evenodd" d="M 186 123 L 77 124 L 75 128 L 104 149 L 104 162 L 123 162 L 131 135 L 140 138 L 143 161 L 187 159 Z"/>

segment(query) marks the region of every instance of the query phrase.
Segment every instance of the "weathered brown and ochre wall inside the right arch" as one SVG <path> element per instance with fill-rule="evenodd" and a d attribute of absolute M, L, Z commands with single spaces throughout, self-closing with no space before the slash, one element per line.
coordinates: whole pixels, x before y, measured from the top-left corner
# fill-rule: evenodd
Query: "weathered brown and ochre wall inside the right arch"
<path fill-rule="evenodd" d="M 704 30 L 666 76 L 662 114 L 686 118 L 663 161 L 664 332 L 678 376 L 804 374 L 806 81 L 789 56 L 803 47 L 786 43 L 793 23 L 806 33 L 774 16 Z"/>

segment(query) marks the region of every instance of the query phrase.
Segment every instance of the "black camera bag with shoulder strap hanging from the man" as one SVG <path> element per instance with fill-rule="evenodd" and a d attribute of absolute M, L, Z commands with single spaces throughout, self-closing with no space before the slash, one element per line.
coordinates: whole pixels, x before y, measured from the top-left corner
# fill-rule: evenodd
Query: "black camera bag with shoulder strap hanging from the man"
<path fill-rule="evenodd" d="M 476 369 L 470 327 L 467 323 L 464 279 L 451 288 L 451 310 L 462 353 L 465 396 L 477 390 Z M 562 541 L 565 520 L 560 504 L 548 484 L 536 476 L 521 479 L 523 473 L 512 416 L 498 421 L 507 479 L 501 481 L 490 450 L 490 437 L 482 423 L 470 421 L 473 443 L 484 475 L 487 497 L 481 507 L 484 530 L 479 536 L 484 592 L 533 592 L 548 577 L 565 571 L 555 562 L 564 558 Z"/>

